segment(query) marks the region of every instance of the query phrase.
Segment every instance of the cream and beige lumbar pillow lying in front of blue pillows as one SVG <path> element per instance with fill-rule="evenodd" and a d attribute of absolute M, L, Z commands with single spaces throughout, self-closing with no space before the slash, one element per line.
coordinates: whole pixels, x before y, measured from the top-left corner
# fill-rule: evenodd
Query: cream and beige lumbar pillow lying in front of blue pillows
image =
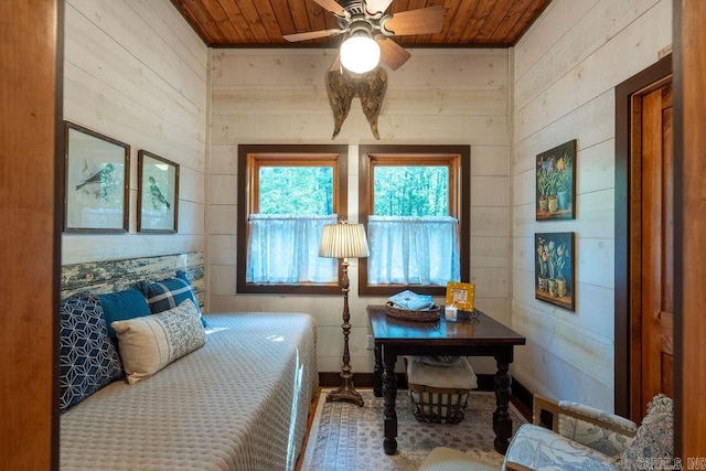
<path fill-rule="evenodd" d="M 191 299 L 153 315 L 115 321 L 118 347 L 128 383 L 146 379 L 186 353 L 200 349 L 206 336 Z"/>

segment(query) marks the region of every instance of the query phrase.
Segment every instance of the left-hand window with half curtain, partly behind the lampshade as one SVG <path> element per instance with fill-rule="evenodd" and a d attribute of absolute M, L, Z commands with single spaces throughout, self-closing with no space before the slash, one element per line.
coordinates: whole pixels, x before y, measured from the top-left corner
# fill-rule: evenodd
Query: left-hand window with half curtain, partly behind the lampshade
<path fill-rule="evenodd" d="M 346 146 L 238 147 L 238 292 L 340 293 L 319 242 L 346 217 Z"/>

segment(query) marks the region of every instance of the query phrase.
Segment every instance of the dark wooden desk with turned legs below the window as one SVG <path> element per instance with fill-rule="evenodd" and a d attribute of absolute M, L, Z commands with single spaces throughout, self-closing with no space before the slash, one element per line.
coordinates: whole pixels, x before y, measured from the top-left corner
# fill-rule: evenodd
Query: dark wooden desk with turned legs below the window
<path fill-rule="evenodd" d="M 510 364 L 515 345 L 524 345 L 525 338 L 479 310 L 473 315 L 459 312 L 457 322 L 447 322 L 443 313 L 438 321 L 417 322 L 389 317 L 384 306 L 368 306 L 367 315 L 375 338 L 375 396 L 384 397 L 383 421 L 385 453 L 397 451 L 397 384 L 395 363 L 398 355 L 493 356 L 496 408 L 493 413 L 495 450 L 507 451 L 512 436 L 509 413 L 511 382 Z"/>

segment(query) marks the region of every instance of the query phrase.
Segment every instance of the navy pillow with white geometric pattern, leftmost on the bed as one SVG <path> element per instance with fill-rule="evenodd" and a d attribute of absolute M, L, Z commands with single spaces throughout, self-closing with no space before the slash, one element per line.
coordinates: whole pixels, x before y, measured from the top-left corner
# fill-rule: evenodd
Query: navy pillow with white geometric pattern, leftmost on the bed
<path fill-rule="evenodd" d="M 122 376 L 98 298 L 82 292 L 60 303 L 60 410 Z"/>

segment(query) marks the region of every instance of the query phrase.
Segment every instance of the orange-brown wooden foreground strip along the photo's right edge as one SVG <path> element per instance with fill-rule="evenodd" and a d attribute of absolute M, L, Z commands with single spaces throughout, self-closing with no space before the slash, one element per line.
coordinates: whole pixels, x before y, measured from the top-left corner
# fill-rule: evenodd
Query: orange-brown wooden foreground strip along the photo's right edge
<path fill-rule="evenodd" d="M 706 2 L 675 0 L 676 453 L 706 460 Z M 693 461 L 692 461 L 693 460 Z"/>

